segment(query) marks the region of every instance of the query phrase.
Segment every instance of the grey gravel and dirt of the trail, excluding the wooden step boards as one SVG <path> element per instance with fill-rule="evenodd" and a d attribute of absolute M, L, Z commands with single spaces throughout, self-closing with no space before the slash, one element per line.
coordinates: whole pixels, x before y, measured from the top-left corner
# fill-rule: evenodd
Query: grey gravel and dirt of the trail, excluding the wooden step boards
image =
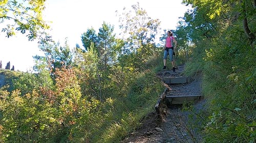
<path fill-rule="evenodd" d="M 167 72 L 168 73 L 168 72 Z M 171 73 L 171 72 L 169 72 Z M 181 76 L 180 74 L 158 73 L 160 77 Z M 168 95 L 201 95 L 202 76 L 197 74 L 189 83 L 168 84 L 170 91 Z M 201 142 L 202 137 L 196 124 L 196 113 L 205 110 L 205 99 L 201 99 L 192 105 L 164 106 L 162 113 L 149 113 L 141 120 L 142 126 L 131 132 L 122 143 L 175 143 L 175 142 Z M 193 108 L 193 111 L 186 110 Z M 191 117 L 194 118 L 191 120 Z"/>

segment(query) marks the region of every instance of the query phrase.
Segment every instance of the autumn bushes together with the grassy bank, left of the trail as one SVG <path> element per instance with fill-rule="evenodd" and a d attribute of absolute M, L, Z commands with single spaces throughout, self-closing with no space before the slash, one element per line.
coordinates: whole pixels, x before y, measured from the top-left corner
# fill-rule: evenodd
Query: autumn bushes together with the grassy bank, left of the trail
<path fill-rule="evenodd" d="M 112 97 L 102 103 L 81 94 L 77 71 L 68 68 L 56 69 L 56 84 L 52 89 L 49 88 L 53 85 L 26 94 L 18 90 L 11 94 L 1 92 L 1 139 L 3 142 L 120 141 L 153 110 L 162 85 L 150 70 L 124 73 L 116 68 L 115 71 L 111 75 L 113 81 L 106 87 Z M 34 85 L 30 86 L 33 89 Z"/>

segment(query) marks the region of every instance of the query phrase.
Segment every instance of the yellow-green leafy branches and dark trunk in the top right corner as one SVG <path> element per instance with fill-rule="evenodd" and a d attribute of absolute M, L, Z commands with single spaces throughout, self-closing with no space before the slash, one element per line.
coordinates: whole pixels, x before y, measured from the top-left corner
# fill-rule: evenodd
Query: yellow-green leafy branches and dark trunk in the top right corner
<path fill-rule="evenodd" d="M 244 32 L 249 42 L 252 44 L 255 41 L 255 30 L 253 29 L 255 18 L 253 18 L 253 13 L 255 12 L 256 1 L 185 0 L 184 3 L 192 4 L 195 8 L 205 8 L 205 17 L 210 20 L 219 16 L 223 16 L 222 18 L 225 22 L 234 22 L 242 19 Z"/>

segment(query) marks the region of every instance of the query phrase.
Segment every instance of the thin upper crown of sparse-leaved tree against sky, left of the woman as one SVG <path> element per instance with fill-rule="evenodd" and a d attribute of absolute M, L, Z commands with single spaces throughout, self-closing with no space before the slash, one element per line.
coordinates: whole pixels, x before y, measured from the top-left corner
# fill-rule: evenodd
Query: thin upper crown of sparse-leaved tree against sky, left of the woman
<path fill-rule="evenodd" d="M 129 36 L 126 40 L 131 46 L 130 49 L 136 51 L 139 47 L 154 42 L 160 21 L 148 17 L 146 11 L 139 7 L 139 3 L 133 5 L 132 9 L 133 11 L 124 11 L 119 15 L 119 27 L 123 30 L 123 37 Z"/>

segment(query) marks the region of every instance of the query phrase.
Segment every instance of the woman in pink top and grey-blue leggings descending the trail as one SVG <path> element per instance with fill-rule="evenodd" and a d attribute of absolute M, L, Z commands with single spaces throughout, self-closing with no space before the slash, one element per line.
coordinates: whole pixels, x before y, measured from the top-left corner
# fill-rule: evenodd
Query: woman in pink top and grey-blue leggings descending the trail
<path fill-rule="evenodd" d="M 166 59 L 167 59 L 167 55 L 169 54 L 170 57 L 170 61 L 172 62 L 173 65 L 173 72 L 175 72 L 175 63 L 174 63 L 174 49 L 176 49 L 177 47 L 177 41 L 176 39 L 173 37 L 173 34 L 168 31 L 167 32 L 167 38 L 165 41 L 165 47 L 163 48 L 164 53 L 163 53 L 163 69 L 166 69 Z M 175 43 L 175 46 L 173 45 L 173 42 Z"/>

